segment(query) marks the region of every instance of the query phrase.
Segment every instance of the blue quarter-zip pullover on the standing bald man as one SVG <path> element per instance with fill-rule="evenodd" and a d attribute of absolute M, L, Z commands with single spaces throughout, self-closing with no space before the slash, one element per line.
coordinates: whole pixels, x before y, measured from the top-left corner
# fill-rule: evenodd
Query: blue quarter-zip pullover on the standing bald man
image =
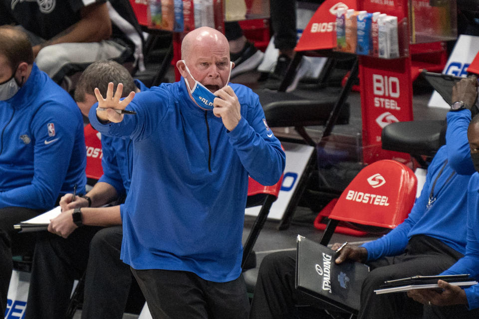
<path fill-rule="evenodd" d="M 231 132 L 191 101 L 183 78 L 138 93 L 121 123 L 90 123 L 131 138 L 133 174 L 123 205 L 121 259 L 135 269 L 182 270 L 205 280 L 240 276 L 248 173 L 274 184 L 285 155 L 264 121 L 259 99 L 231 84 L 241 120 Z"/>

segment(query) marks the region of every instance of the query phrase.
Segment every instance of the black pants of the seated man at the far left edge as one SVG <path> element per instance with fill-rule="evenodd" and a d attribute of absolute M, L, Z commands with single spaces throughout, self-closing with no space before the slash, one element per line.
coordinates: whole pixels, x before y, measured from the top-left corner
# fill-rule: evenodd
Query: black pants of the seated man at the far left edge
<path fill-rule="evenodd" d="M 18 234 L 13 225 L 30 219 L 43 211 L 22 208 L 0 208 L 0 314 L 5 313 L 6 296 L 12 271 L 12 253 L 32 254 L 35 233 Z"/>

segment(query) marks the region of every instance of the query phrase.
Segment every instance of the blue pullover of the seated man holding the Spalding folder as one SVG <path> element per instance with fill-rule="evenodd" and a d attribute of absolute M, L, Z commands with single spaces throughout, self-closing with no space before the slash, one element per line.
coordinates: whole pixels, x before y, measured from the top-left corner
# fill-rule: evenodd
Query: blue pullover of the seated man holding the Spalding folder
<path fill-rule="evenodd" d="M 401 254 L 409 239 L 420 234 L 439 239 L 456 251 L 465 254 L 466 233 L 457 230 L 464 229 L 466 225 L 467 192 L 465 189 L 471 175 L 475 172 L 467 137 L 470 122 L 469 110 L 448 113 L 447 143 L 439 149 L 429 165 L 421 195 L 403 223 L 386 236 L 362 245 L 368 251 L 368 260 Z M 434 187 L 436 201 L 428 208 L 428 198 L 434 180 L 439 175 L 445 160 L 448 160 L 448 164 Z M 445 184 L 453 171 L 456 174 Z"/>

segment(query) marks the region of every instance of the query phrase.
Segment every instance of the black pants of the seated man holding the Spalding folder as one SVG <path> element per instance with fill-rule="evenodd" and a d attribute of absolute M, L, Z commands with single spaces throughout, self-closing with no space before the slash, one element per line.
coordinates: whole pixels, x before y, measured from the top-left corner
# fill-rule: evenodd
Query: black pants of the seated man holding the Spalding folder
<path fill-rule="evenodd" d="M 406 251 L 395 257 L 370 262 L 371 272 L 361 289 L 361 319 L 420 318 L 422 305 L 405 293 L 376 295 L 373 291 L 386 280 L 414 275 L 437 275 L 463 257 L 441 241 L 414 236 Z M 266 256 L 261 262 L 251 304 L 250 319 L 291 318 L 296 305 L 308 304 L 294 289 L 296 252 Z M 313 305 L 313 304 L 312 304 Z M 316 307 L 317 305 L 313 305 Z"/>

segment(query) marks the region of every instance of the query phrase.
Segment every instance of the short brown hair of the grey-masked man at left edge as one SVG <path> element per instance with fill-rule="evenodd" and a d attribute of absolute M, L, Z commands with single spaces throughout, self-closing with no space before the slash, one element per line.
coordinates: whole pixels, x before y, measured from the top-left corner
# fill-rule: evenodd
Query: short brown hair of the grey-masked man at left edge
<path fill-rule="evenodd" d="M 21 62 L 33 64 L 33 51 L 26 34 L 18 28 L 0 26 L 0 55 L 6 57 L 8 64 L 14 70 Z"/>

